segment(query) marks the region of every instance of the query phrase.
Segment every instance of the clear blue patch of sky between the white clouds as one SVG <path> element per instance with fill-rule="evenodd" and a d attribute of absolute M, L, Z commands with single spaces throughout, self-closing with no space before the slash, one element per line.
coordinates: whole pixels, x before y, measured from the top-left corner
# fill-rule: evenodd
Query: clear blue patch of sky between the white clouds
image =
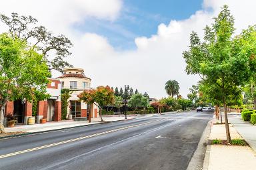
<path fill-rule="evenodd" d="M 115 21 L 87 18 L 76 25 L 81 32 L 97 33 L 106 37 L 116 50 L 135 48 L 136 37 L 150 37 L 157 33 L 160 23 L 171 19 L 187 19 L 201 9 L 202 0 L 125 0 L 120 16 Z"/>

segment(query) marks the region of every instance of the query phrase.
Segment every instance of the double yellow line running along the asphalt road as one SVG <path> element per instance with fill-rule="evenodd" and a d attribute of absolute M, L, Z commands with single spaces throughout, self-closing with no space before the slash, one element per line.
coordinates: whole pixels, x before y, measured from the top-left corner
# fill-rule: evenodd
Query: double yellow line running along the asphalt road
<path fill-rule="evenodd" d="M 103 132 L 100 132 L 100 133 L 95 133 L 95 134 L 92 134 L 92 135 L 86 135 L 86 136 L 83 136 L 83 137 L 77 137 L 75 139 L 69 139 L 69 140 L 66 140 L 66 141 L 59 141 L 57 143 L 52 143 L 52 144 L 49 144 L 49 145 L 43 145 L 43 146 L 40 146 L 40 147 L 34 147 L 34 148 L 31 148 L 31 149 L 25 149 L 23 151 L 8 153 L 8 154 L 5 154 L 5 155 L 0 155 L 0 159 L 5 158 L 5 157 L 11 157 L 11 156 L 14 156 L 14 155 L 19 155 L 21 153 L 27 153 L 27 152 L 30 152 L 30 151 L 37 151 L 39 149 L 44 149 L 44 148 L 47 148 L 47 147 L 53 147 L 53 146 L 56 146 L 56 145 L 70 143 L 70 142 L 73 142 L 73 141 L 79 141 L 81 139 L 87 139 L 87 138 L 95 137 L 95 136 L 98 136 L 98 135 L 104 135 L 104 134 L 107 134 L 107 133 L 112 133 L 112 132 L 120 131 L 120 130 L 123 130 L 123 129 L 129 129 L 129 128 L 134 128 L 134 127 L 137 127 L 137 126 L 143 126 L 143 125 L 151 124 L 151 123 L 157 122 L 157 121 L 159 121 L 159 120 L 146 122 L 146 123 L 143 123 L 143 124 L 137 124 L 137 125 L 133 125 L 133 126 L 126 126 L 126 127 L 123 127 L 123 128 L 117 128 L 117 129 L 113 129 L 113 130 L 109 130 L 109 131 L 103 131 Z"/>

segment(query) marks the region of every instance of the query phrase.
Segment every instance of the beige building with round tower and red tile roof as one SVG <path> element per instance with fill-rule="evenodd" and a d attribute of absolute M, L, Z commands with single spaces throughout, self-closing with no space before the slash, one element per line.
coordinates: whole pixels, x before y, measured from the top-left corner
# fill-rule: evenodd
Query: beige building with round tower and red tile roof
<path fill-rule="evenodd" d="M 77 95 L 91 88 L 91 78 L 85 76 L 82 68 L 65 68 L 63 75 L 57 79 L 61 82 L 61 89 L 67 88 L 73 91 L 69 98 L 67 118 L 69 115 L 72 118 L 88 118 L 89 114 L 91 114 L 91 118 L 98 118 L 99 110 L 95 104 L 87 105 L 78 101 Z"/>

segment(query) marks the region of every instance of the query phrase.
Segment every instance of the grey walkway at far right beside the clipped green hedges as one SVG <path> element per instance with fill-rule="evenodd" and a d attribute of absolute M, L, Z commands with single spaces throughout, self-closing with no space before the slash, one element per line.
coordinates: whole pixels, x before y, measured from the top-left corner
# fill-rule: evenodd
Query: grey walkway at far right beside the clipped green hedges
<path fill-rule="evenodd" d="M 229 119 L 229 122 L 256 152 L 256 126 L 253 126 L 250 122 L 241 120 L 241 116 Z"/>

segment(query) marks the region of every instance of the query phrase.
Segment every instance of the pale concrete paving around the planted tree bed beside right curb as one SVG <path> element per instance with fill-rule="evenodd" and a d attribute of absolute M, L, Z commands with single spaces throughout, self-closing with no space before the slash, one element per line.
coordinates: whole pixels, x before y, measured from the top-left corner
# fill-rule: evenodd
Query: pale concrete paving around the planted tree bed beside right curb
<path fill-rule="evenodd" d="M 237 122 L 237 120 L 239 119 L 240 119 L 239 117 L 230 118 L 229 122 Z M 241 126 L 241 124 L 243 125 L 243 123 L 237 122 L 235 126 L 233 126 L 233 123 L 229 125 L 229 129 L 231 132 L 231 139 L 243 139 L 243 135 L 241 136 L 240 135 L 241 133 L 239 134 L 236 131 L 237 126 Z M 256 135 L 254 136 L 256 137 Z M 209 139 L 211 140 L 226 139 L 225 125 L 212 124 Z M 256 153 L 249 146 L 207 145 L 207 152 L 205 155 L 203 169 L 254 170 L 255 167 L 256 167 Z"/>

